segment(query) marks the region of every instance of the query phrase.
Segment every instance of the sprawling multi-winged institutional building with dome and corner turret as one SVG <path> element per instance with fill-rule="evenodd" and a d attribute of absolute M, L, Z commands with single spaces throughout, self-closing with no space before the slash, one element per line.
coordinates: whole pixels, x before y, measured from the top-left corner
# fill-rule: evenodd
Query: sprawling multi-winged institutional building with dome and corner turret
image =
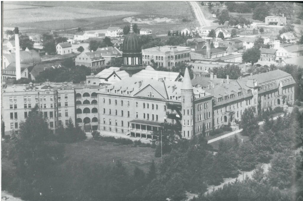
<path fill-rule="evenodd" d="M 281 70 L 231 80 L 155 71 L 143 65 L 141 44 L 133 33 L 123 43 L 121 68 L 87 76 L 86 84 L 41 83 L 3 87 L 5 130 L 18 129 L 37 105 L 51 129 L 69 118 L 86 132 L 153 139 L 161 123 L 175 124 L 190 138 L 241 120 L 248 107 L 255 112 L 294 103 L 293 77 Z"/>

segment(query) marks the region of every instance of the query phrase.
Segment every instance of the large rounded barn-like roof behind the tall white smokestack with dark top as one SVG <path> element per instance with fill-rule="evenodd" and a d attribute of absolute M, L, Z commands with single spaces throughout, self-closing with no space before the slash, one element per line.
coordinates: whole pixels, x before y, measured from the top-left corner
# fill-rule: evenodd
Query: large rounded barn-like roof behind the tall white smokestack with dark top
<path fill-rule="evenodd" d="M 8 63 L 15 62 L 15 53 L 3 54 L 3 57 L 8 60 Z M 41 62 L 41 58 L 35 50 L 24 50 L 20 51 L 20 62 L 23 64 L 32 64 L 33 62 L 37 64 Z"/>

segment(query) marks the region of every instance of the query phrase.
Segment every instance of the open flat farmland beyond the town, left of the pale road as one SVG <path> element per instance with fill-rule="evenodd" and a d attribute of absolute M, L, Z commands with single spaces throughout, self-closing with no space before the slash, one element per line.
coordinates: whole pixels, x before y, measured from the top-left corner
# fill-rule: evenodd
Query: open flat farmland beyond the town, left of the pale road
<path fill-rule="evenodd" d="M 193 22 L 195 18 L 188 2 L 5 2 L 3 13 L 4 27 L 19 26 L 21 31 L 36 33 L 50 30 L 75 32 L 73 29 L 78 27 L 88 31 L 106 29 L 109 25 L 123 28 L 129 24 L 123 18 L 148 15 L 174 22 L 140 24 L 140 28 L 151 28 L 159 34 L 167 33 L 168 29 L 181 30 L 198 24 Z"/>

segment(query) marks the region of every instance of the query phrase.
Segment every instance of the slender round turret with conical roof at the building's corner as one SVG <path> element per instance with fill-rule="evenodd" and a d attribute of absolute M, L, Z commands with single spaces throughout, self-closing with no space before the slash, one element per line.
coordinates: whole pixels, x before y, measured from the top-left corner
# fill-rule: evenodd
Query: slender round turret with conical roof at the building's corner
<path fill-rule="evenodd" d="M 194 90 L 192 88 L 188 69 L 185 69 L 181 86 L 182 96 L 182 137 L 191 138 L 195 135 L 195 110 L 194 110 Z"/>

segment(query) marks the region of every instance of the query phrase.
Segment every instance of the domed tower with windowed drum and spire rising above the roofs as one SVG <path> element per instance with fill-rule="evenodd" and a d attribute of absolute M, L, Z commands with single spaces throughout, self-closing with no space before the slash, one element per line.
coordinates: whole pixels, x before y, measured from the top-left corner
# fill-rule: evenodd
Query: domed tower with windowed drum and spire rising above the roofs
<path fill-rule="evenodd" d="M 140 38 L 135 34 L 132 24 L 129 33 L 124 38 L 122 52 L 123 61 L 121 70 L 125 70 L 130 74 L 135 74 L 145 68 L 142 65 Z"/>

